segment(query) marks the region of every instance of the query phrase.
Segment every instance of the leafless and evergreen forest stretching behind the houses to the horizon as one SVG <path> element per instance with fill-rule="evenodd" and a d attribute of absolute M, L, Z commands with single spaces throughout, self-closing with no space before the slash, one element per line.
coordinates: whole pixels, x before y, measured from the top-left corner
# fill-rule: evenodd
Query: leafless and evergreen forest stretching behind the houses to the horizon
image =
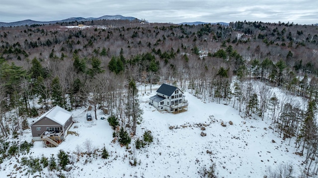
<path fill-rule="evenodd" d="M 242 117 L 263 119 L 266 113 L 277 136 L 296 138 L 295 147 L 302 148 L 304 177 L 318 174 L 318 26 L 137 20 L 78 25 L 0 28 L 1 139 L 18 136 L 27 117 L 55 105 L 69 111 L 92 106 L 95 117 L 97 109 L 108 108 L 134 134 L 142 115 L 138 94 L 146 93 L 142 86 L 167 83 L 231 105 Z M 265 85 L 256 89 L 255 82 Z M 307 102 L 279 98 L 268 87 Z"/>

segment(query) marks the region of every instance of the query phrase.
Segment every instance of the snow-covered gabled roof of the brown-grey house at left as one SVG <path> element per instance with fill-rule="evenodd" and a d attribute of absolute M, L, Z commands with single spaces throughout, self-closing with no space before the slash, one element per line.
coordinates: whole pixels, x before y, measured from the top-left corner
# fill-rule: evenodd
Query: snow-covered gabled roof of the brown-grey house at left
<path fill-rule="evenodd" d="M 44 113 L 39 119 L 32 122 L 31 126 L 44 117 L 51 119 L 61 125 L 64 125 L 68 121 L 68 119 L 72 117 L 72 113 L 59 106 L 55 106 L 48 112 Z"/>

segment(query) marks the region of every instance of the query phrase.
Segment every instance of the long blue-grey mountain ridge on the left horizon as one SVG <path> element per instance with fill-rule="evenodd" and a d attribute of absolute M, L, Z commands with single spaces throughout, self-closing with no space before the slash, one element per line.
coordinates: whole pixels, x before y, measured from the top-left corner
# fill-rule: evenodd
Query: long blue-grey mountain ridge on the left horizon
<path fill-rule="evenodd" d="M 44 25 L 44 24 L 54 24 L 54 23 L 61 23 L 61 22 L 82 22 L 82 21 L 91 21 L 91 20 L 136 20 L 135 17 L 125 17 L 122 15 L 104 15 L 101 17 L 89 17 L 89 18 L 83 18 L 83 17 L 71 17 L 64 20 L 56 20 L 56 21 L 34 21 L 34 20 L 22 20 L 17 22 L 0 22 L 0 27 L 10 27 L 10 26 L 24 26 L 24 25 Z M 139 20 L 139 19 L 138 19 Z"/>

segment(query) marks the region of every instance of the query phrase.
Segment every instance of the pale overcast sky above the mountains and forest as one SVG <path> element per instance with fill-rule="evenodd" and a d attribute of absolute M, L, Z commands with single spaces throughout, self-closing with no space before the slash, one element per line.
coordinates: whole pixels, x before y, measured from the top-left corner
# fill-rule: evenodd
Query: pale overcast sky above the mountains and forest
<path fill-rule="evenodd" d="M 149 22 L 318 23 L 318 0 L 0 0 L 0 22 L 103 15 Z"/>

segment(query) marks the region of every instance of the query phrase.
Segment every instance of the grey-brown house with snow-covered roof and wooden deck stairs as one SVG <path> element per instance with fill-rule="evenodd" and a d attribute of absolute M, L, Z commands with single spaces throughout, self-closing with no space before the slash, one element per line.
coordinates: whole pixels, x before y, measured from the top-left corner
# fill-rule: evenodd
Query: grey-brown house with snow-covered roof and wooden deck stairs
<path fill-rule="evenodd" d="M 34 141 L 44 141 L 46 146 L 58 146 L 73 123 L 72 113 L 55 106 L 30 124 Z"/>

